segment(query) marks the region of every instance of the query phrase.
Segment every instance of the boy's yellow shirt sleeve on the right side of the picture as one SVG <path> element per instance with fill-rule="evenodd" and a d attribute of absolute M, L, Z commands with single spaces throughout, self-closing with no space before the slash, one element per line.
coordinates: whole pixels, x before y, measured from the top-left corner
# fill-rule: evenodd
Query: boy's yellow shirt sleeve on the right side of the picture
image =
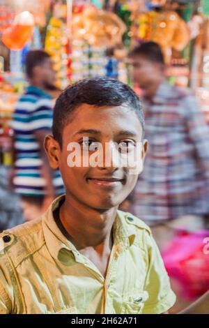
<path fill-rule="evenodd" d="M 169 276 L 152 235 L 146 232 L 144 242 L 148 249 L 148 273 L 144 286 L 148 299 L 144 303 L 143 313 L 161 314 L 175 304 L 176 295 L 171 290 Z"/>

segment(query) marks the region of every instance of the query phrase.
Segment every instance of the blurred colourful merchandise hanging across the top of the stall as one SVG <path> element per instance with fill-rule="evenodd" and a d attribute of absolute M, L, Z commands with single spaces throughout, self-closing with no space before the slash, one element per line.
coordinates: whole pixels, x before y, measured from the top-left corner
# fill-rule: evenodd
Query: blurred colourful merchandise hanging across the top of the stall
<path fill-rule="evenodd" d="M 195 75 L 202 61 L 196 40 L 203 33 L 207 1 L 1 2 L 5 11 L 0 15 L 2 41 L 10 50 L 21 52 L 19 62 L 10 55 L 10 66 L 15 62 L 15 69 L 19 64 L 18 71 L 23 71 L 26 52 L 45 47 L 61 89 L 84 77 L 107 75 L 131 82 L 127 53 L 146 40 L 162 46 L 171 83 L 192 85 L 190 66 Z"/>

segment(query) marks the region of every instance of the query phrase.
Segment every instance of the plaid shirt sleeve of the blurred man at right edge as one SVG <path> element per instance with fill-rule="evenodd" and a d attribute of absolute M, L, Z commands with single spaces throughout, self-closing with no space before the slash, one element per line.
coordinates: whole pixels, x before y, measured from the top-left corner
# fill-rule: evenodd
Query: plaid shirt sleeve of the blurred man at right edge
<path fill-rule="evenodd" d="M 192 94 L 183 100 L 183 107 L 187 115 L 189 138 L 194 142 L 197 161 L 202 167 L 206 179 L 209 180 L 209 126 L 201 107 Z"/>

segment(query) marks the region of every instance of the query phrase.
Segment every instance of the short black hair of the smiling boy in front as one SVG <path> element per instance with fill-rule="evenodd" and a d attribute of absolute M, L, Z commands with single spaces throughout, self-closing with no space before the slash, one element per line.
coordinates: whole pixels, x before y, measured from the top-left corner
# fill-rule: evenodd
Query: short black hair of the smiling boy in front
<path fill-rule="evenodd" d="M 137 113 L 144 131 L 144 114 L 137 94 L 123 82 L 109 77 L 96 77 L 67 87 L 57 98 L 52 133 L 60 146 L 63 128 L 70 121 L 70 114 L 82 104 L 95 105 L 95 107 L 127 105 Z"/>

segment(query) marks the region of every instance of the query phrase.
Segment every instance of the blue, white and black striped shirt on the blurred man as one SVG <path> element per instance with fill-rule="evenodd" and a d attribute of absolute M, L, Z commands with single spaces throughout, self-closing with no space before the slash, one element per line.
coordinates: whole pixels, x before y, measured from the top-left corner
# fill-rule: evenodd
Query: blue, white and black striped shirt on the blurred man
<path fill-rule="evenodd" d="M 42 174 L 40 144 L 35 132 L 52 128 L 52 97 L 37 87 L 30 86 L 17 102 L 12 126 L 15 133 L 15 177 L 13 184 L 19 195 L 45 195 L 46 181 Z M 58 170 L 53 172 L 57 195 L 64 192 Z"/>

